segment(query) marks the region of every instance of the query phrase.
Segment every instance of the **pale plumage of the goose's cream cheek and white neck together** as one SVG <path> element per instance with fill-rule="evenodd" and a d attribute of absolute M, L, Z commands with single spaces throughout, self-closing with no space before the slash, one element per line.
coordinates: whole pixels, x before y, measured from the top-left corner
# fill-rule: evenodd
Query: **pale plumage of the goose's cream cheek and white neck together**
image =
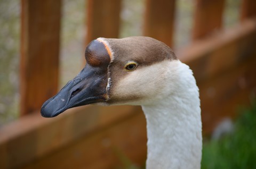
<path fill-rule="evenodd" d="M 137 94 L 147 120 L 147 168 L 200 168 L 202 122 L 193 72 L 178 60 L 130 72 L 113 91 L 115 97 Z"/>

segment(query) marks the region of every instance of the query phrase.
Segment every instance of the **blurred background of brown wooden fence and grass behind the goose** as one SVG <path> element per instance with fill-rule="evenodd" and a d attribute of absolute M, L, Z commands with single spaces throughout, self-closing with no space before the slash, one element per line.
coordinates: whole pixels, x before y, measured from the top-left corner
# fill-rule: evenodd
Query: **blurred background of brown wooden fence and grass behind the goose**
<path fill-rule="evenodd" d="M 193 69 L 202 100 L 202 168 L 255 168 L 255 11 L 249 0 L 0 0 L 0 168 L 143 168 L 139 107 L 39 115 L 44 100 L 81 71 L 92 39 L 129 36 L 164 41 Z M 69 163 L 56 162 L 65 157 Z"/>

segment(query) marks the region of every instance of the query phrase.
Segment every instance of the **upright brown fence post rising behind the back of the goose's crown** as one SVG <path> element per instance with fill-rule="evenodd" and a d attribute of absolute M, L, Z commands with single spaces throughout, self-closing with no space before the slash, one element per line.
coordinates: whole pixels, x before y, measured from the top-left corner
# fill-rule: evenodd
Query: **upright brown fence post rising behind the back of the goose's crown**
<path fill-rule="evenodd" d="M 147 0 L 144 35 L 173 45 L 175 0 Z"/>

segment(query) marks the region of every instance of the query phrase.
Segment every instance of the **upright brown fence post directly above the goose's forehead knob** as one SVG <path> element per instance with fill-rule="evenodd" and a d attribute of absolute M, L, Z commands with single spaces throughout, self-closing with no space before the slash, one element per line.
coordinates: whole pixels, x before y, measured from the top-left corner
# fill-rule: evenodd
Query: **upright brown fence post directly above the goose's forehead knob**
<path fill-rule="evenodd" d="M 120 10 L 121 0 L 88 0 L 85 44 L 98 37 L 118 38 Z"/>

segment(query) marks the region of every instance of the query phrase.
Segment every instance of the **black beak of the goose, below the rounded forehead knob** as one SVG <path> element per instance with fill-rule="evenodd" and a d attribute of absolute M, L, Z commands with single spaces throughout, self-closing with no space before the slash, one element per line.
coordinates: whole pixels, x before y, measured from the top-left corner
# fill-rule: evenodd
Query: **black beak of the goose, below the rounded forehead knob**
<path fill-rule="evenodd" d="M 54 117 L 71 107 L 105 102 L 106 86 L 107 71 L 86 64 L 84 69 L 57 95 L 43 104 L 41 115 Z"/>

